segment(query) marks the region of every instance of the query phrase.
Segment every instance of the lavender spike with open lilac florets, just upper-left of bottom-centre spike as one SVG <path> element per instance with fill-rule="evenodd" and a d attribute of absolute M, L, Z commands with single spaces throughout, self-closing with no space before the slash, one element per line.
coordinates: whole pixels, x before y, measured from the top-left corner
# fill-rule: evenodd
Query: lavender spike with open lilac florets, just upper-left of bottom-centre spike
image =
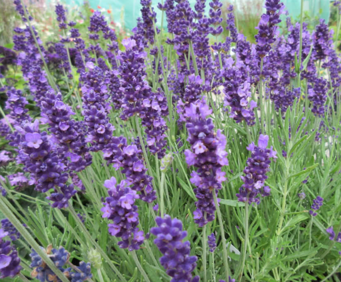
<path fill-rule="evenodd" d="M 112 236 L 121 237 L 118 242 L 120 248 L 128 248 L 129 251 L 138 250 L 143 243 L 143 231 L 137 226 L 139 224 L 137 206 L 135 200 L 139 198 L 136 191 L 128 187 L 127 181 L 121 181 L 116 185 L 115 177 L 104 182 L 108 188 L 109 197 L 105 198 L 102 217 L 112 220 L 108 224 L 108 231 Z"/>

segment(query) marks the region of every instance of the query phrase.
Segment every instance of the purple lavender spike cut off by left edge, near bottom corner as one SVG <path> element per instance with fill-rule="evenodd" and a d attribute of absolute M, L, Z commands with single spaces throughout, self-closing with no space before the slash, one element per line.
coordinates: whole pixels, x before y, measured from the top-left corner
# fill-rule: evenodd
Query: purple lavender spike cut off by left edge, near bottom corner
<path fill-rule="evenodd" d="M 3 228 L 0 229 L 0 279 L 6 277 L 13 278 L 19 274 L 22 267 L 20 266 L 20 258 L 14 246 L 10 245 L 10 241 L 4 240 L 3 237 L 9 235 Z"/>

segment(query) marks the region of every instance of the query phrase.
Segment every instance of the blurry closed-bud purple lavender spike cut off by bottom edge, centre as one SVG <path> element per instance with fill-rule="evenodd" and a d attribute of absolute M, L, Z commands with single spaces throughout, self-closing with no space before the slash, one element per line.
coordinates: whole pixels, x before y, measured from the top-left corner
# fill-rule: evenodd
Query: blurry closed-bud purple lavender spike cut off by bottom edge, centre
<path fill-rule="evenodd" d="M 182 231 L 182 222 L 169 215 L 157 217 L 155 221 L 158 227 L 152 227 L 150 232 L 156 236 L 154 243 L 164 255 L 160 263 L 172 277 L 171 282 L 199 282 L 198 276 L 192 278 L 198 258 L 190 256 L 189 241 L 182 241 L 187 235 Z"/>

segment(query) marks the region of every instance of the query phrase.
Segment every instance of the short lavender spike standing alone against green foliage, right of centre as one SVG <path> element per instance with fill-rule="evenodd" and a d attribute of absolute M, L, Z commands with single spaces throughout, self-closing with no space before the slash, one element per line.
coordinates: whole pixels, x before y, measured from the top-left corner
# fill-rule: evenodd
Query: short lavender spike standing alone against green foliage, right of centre
<path fill-rule="evenodd" d="M 238 201 L 256 202 L 259 204 L 260 199 L 258 194 L 261 196 L 269 196 L 270 188 L 264 186 L 265 180 L 268 178 L 266 173 L 270 169 L 270 158 L 277 158 L 276 151 L 272 149 L 272 146 L 267 149 L 269 137 L 267 135 L 260 135 L 258 139 L 258 146 L 252 142 L 247 149 L 251 152 L 251 158 L 248 158 L 244 169 L 245 176 L 241 176 L 244 184 L 239 188 L 237 193 Z"/>

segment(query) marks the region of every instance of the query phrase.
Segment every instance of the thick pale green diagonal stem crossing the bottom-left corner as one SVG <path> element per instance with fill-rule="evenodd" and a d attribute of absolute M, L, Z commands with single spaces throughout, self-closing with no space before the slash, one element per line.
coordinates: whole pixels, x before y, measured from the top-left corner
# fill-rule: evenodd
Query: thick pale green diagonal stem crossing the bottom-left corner
<path fill-rule="evenodd" d="M 18 230 L 18 232 L 23 236 L 23 238 L 31 245 L 31 247 L 37 252 L 37 254 L 42 258 L 42 260 L 47 264 L 47 266 L 52 270 L 52 272 L 57 275 L 57 277 L 62 282 L 69 282 L 69 280 L 64 276 L 64 274 L 54 265 L 53 261 L 47 256 L 45 251 L 41 249 L 36 240 L 31 236 L 31 234 L 26 230 L 26 228 L 20 223 L 16 216 L 7 208 L 5 203 L 0 197 L 0 211 L 3 215 L 8 218 L 8 220 L 13 224 L 13 226 Z"/>

